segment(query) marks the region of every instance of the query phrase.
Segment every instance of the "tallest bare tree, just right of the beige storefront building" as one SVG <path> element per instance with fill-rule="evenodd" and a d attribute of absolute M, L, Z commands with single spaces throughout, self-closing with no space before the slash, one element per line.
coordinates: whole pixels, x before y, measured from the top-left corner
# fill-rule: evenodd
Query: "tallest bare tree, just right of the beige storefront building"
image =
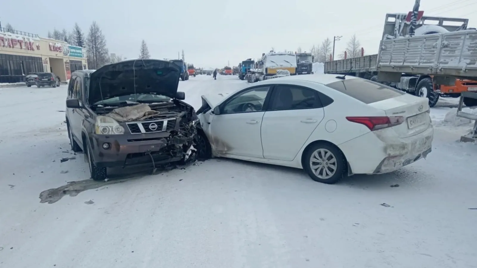
<path fill-rule="evenodd" d="M 106 48 L 106 38 L 96 21 L 90 26 L 88 38 L 86 39 L 88 66 L 90 69 L 101 68 L 110 61 L 108 49 Z"/>

